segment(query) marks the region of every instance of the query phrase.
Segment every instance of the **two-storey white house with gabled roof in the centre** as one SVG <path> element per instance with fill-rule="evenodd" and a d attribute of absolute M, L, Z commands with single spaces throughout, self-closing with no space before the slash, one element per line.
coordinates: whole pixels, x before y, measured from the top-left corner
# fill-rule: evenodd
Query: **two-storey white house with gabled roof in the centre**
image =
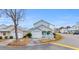
<path fill-rule="evenodd" d="M 28 31 L 32 33 L 32 38 L 33 39 L 42 39 L 42 38 L 48 38 L 52 39 L 53 38 L 53 33 L 55 26 L 52 25 L 52 28 L 50 28 L 50 23 L 40 20 L 36 23 L 33 24 L 34 27 L 29 29 Z"/>

